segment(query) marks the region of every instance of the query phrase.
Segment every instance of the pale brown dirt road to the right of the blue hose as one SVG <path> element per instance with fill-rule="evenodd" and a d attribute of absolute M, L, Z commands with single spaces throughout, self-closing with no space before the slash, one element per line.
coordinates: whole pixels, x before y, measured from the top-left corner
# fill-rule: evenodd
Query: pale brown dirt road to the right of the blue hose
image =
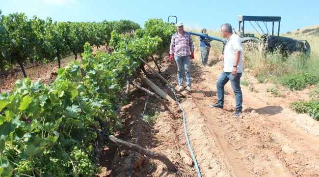
<path fill-rule="evenodd" d="M 319 176 L 319 122 L 288 107 L 307 97 L 307 91 L 283 90 L 285 98 L 274 98 L 266 92 L 271 84 L 255 83 L 253 90 L 258 92 L 242 86 L 243 114 L 233 118 L 235 96 L 229 83 L 224 109 L 208 106 L 217 100 L 215 84 L 222 63 L 192 67 L 193 91 L 182 105 L 205 176 Z"/>

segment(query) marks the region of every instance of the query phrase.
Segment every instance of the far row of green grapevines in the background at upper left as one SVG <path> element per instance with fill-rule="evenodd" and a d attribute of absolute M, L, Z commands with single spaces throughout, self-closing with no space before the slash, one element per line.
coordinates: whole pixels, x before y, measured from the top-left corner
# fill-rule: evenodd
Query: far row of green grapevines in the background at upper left
<path fill-rule="evenodd" d="M 137 29 L 140 26 L 129 20 L 53 23 L 51 18 L 44 21 L 36 16 L 28 20 L 24 13 L 0 15 L 0 70 L 16 63 L 23 67 L 24 63 L 38 60 L 59 61 L 70 51 L 77 57 L 84 52 L 86 42 L 105 45 L 112 30 L 130 34 Z"/>

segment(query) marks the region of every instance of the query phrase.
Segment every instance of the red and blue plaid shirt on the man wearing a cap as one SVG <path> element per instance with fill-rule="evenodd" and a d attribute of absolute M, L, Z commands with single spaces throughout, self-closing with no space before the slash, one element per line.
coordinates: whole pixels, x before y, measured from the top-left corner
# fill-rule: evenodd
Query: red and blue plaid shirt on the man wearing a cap
<path fill-rule="evenodd" d="M 174 33 L 169 54 L 182 57 L 188 56 L 189 51 L 194 52 L 194 44 L 190 34 L 186 31 L 184 31 L 184 35 L 180 35 L 177 32 Z"/>

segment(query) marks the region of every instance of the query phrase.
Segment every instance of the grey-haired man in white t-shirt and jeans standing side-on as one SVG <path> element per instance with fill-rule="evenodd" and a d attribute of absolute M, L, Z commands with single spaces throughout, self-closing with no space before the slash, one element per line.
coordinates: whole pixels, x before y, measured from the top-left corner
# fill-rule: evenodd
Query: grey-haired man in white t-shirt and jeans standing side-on
<path fill-rule="evenodd" d="M 209 104 L 211 107 L 224 108 L 224 86 L 228 81 L 232 85 L 236 97 L 236 112 L 234 117 L 239 117 L 242 110 L 242 92 L 240 88 L 240 77 L 242 74 L 242 45 L 237 34 L 233 33 L 230 24 L 223 24 L 220 28 L 223 37 L 227 38 L 224 55 L 219 56 L 219 60 L 224 60 L 224 69 L 216 83 L 218 102 Z"/>

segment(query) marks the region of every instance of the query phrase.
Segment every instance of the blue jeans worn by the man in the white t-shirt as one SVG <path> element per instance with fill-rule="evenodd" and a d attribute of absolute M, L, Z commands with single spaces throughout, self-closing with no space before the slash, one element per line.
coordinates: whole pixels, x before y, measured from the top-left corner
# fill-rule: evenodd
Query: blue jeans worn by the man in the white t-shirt
<path fill-rule="evenodd" d="M 222 71 L 218 81 L 216 83 L 217 94 L 218 94 L 218 104 L 224 106 L 224 94 L 225 89 L 224 86 L 230 80 L 230 84 L 232 85 L 232 89 L 234 90 L 236 97 L 236 110 L 242 110 L 242 92 L 240 88 L 240 77 L 242 73 L 237 73 L 234 77 L 231 72 Z"/>

